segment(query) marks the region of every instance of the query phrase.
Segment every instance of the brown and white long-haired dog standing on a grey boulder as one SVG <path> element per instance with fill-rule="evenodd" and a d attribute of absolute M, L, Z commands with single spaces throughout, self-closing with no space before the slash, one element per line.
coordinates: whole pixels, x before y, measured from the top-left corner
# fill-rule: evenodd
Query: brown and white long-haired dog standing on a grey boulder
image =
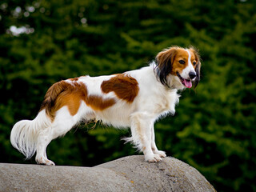
<path fill-rule="evenodd" d="M 27 159 L 36 152 L 38 164 L 54 165 L 46 156 L 46 147 L 54 138 L 79 122 L 100 120 L 106 125 L 130 127 L 131 137 L 125 138 L 126 142 L 142 151 L 147 162 L 160 162 L 166 153 L 155 144 L 154 122 L 174 114 L 178 90 L 198 86 L 200 68 L 198 50 L 172 46 L 139 70 L 62 80 L 47 90 L 34 120 L 14 125 L 10 142 Z"/>

